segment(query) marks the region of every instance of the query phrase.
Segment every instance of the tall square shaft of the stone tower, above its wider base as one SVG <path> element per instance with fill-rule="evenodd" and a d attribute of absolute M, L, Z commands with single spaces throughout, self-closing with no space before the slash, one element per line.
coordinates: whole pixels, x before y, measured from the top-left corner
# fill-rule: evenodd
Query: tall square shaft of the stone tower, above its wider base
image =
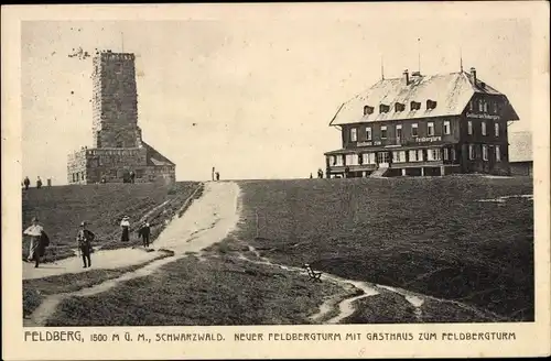
<path fill-rule="evenodd" d="M 93 79 L 94 147 L 139 147 L 134 55 L 98 53 Z"/>

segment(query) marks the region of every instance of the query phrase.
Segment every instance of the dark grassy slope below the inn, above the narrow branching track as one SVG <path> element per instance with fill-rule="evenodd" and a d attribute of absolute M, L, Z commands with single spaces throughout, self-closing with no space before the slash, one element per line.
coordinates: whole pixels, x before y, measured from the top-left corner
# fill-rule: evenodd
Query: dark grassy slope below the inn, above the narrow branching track
<path fill-rule="evenodd" d="M 531 195 L 530 178 L 264 180 L 241 188 L 238 236 L 273 262 L 310 263 L 533 320 L 533 201 L 499 198 Z"/>

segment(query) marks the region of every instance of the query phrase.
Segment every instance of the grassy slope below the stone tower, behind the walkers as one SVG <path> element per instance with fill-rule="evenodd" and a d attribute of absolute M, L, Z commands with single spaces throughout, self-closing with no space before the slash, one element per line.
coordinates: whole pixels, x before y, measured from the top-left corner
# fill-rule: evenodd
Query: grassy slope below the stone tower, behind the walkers
<path fill-rule="evenodd" d="M 138 243 L 133 232 L 142 218 L 152 223 L 154 239 L 184 201 L 199 186 L 196 182 L 180 182 L 173 186 L 158 184 L 99 184 L 30 188 L 23 190 L 23 230 L 33 217 L 51 239 L 45 261 L 74 255 L 75 237 L 83 220 L 96 233 L 95 245 L 102 249 L 128 247 L 121 244 L 119 225 L 130 217 L 130 239 Z M 29 240 L 23 239 L 23 258 L 29 254 Z"/>

